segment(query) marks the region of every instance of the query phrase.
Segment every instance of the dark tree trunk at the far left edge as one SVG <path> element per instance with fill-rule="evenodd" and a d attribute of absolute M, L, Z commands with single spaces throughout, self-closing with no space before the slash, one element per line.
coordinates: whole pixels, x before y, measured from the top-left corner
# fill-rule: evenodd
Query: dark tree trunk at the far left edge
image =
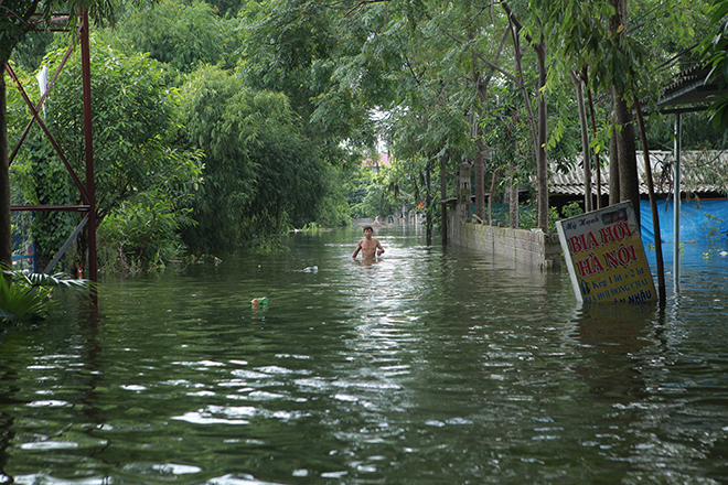
<path fill-rule="evenodd" d="M 10 220 L 10 165 L 8 164 L 7 63 L 7 60 L 0 60 L 0 265 L 11 269 L 12 223 Z"/>

